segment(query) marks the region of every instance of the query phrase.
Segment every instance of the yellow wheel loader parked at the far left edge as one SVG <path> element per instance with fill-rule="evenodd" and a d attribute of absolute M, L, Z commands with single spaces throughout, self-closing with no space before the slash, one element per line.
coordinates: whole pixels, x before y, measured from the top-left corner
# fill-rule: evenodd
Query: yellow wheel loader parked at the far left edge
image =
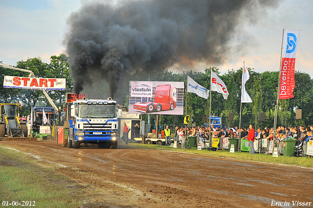
<path fill-rule="evenodd" d="M 0 138 L 7 135 L 8 138 L 27 137 L 26 122 L 20 122 L 18 118 L 19 104 L 0 103 Z"/>

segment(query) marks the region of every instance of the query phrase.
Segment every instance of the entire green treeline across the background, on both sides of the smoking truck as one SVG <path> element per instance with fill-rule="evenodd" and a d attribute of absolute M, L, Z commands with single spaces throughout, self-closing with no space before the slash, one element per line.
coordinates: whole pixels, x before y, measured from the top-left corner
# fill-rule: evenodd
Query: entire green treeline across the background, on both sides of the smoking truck
<path fill-rule="evenodd" d="M 72 79 L 70 77 L 70 70 L 68 67 L 68 57 L 64 54 L 60 56 L 51 56 L 50 64 L 43 63 L 40 58 L 27 59 L 26 61 L 19 61 L 17 68 L 33 70 L 37 77 L 55 77 L 67 79 L 67 92 L 72 90 Z M 199 71 L 183 71 L 181 73 L 174 73 L 168 69 L 151 69 L 150 73 L 142 73 L 137 70 L 133 73 L 124 73 L 119 80 L 119 88 L 114 94 L 113 99 L 122 105 L 128 105 L 129 98 L 129 81 L 174 81 L 185 82 L 187 76 L 190 76 L 198 84 L 210 89 L 210 71 L 211 69 L 219 75 L 224 81 L 229 92 L 227 100 L 218 92 L 212 92 L 211 115 L 222 116 L 223 124 L 226 126 L 238 125 L 241 105 L 241 82 L 242 82 L 242 68 L 231 69 L 226 73 L 221 74 L 219 69 L 213 67 L 205 69 L 203 72 Z M 273 127 L 275 105 L 277 100 L 278 89 L 278 71 L 265 71 L 262 73 L 249 69 L 250 79 L 246 82 L 246 91 L 252 99 L 252 103 L 243 103 L 242 107 L 242 126 L 248 126 L 250 123 L 255 126 L 261 126 L 259 121 L 259 114 L 266 113 L 266 121 L 262 126 Z M 0 84 L 3 86 L 4 75 L 28 76 L 22 71 L 15 71 L 12 69 L 1 68 Z M 185 88 L 186 89 L 186 88 Z M 102 83 L 101 85 L 91 86 L 85 89 L 82 93 L 87 93 L 89 98 L 106 98 L 108 96 L 108 85 Z M 62 106 L 65 100 L 64 91 L 50 91 L 48 92 L 58 106 Z M 186 92 L 185 92 L 186 93 Z M 302 109 L 302 119 L 300 124 L 313 124 L 313 79 L 310 75 L 304 72 L 295 72 L 295 89 L 294 97 L 291 99 L 279 100 L 277 125 L 297 126 L 298 120 L 295 120 L 295 110 Z M 110 95 L 109 95 L 110 96 Z M 209 99 L 206 100 L 197 96 L 194 93 L 188 93 L 187 96 L 187 114 L 193 119 L 196 125 L 202 125 L 202 116 L 209 115 Z M 45 96 L 41 91 L 36 90 L 16 90 L 9 88 L 0 88 L 1 102 L 16 102 L 20 99 L 26 104 L 22 108 L 22 115 L 28 115 L 30 106 L 36 106 L 38 102 L 45 101 Z M 23 110 L 24 109 L 24 110 Z M 234 114 L 234 121 L 228 121 L 229 113 Z M 147 115 L 143 116 L 147 121 Z M 165 124 L 182 125 L 184 116 L 160 116 L 160 125 Z M 154 117 L 151 117 L 151 123 L 154 125 Z"/>

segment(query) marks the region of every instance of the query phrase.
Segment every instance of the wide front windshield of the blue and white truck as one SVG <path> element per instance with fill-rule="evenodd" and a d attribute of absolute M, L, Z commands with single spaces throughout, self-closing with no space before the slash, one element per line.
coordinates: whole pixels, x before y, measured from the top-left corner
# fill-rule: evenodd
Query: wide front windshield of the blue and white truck
<path fill-rule="evenodd" d="M 81 118 L 114 118 L 116 117 L 115 105 L 87 105 L 79 106 Z"/>

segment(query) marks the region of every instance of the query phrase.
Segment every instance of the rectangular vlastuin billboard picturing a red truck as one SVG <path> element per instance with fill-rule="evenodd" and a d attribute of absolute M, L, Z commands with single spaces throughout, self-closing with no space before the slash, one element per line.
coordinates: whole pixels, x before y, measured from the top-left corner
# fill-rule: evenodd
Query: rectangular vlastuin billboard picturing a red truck
<path fill-rule="evenodd" d="M 130 81 L 132 114 L 184 115 L 184 82 Z"/>

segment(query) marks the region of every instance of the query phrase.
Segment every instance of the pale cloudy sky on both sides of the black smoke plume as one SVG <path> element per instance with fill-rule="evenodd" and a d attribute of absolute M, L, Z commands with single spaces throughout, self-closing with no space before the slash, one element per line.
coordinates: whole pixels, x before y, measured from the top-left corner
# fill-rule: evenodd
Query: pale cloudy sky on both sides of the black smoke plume
<path fill-rule="evenodd" d="M 27 58 L 41 57 L 49 63 L 51 55 L 66 53 L 62 44 L 67 18 L 87 0 L 0 0 L 0 61 L 16 65 Z M 268 9 L 256 23 L 245 24 L 243 32 L 251 37 L 244 53 L 230 51 L 221 65 L 199 63 L 195 69 L 246 67 L 258 72 L 278 71 L 283 29 L 301 29 L 295 69 L 313 77 L 313 0 L 283 0 Z M 233 41 L 236 45 L 236 40 Z M 177 66 L 171 68 L 177 71 Z"/>

